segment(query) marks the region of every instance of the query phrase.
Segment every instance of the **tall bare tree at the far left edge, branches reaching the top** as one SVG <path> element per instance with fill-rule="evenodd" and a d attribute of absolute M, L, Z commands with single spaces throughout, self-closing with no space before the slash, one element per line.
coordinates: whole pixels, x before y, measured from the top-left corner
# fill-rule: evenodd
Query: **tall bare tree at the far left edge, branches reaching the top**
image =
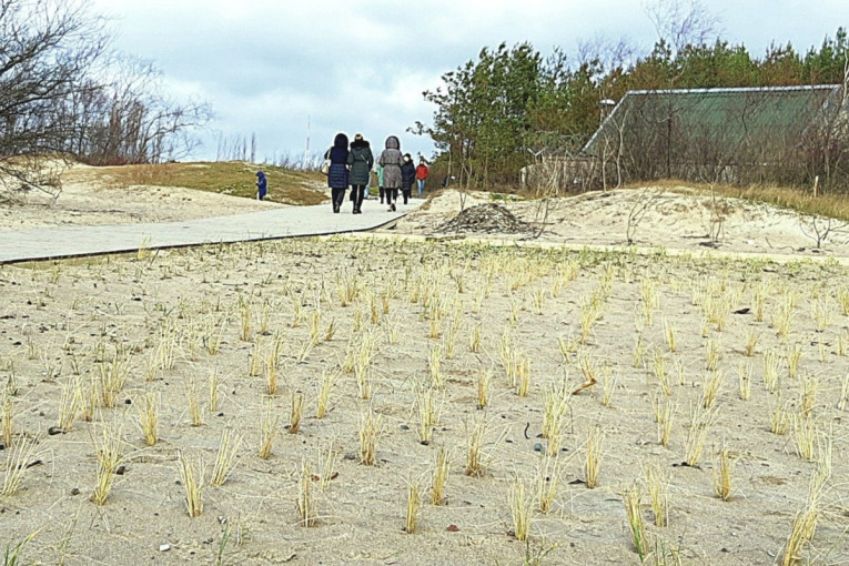
<path fill-rule="evenodd" d="M 79 137 L 64 104 L 92 89 L 105 49 L 103 20 L 82 0 L 0 0 L 0 198 L 59 195 L 58 174 L 42 165 Z"/>

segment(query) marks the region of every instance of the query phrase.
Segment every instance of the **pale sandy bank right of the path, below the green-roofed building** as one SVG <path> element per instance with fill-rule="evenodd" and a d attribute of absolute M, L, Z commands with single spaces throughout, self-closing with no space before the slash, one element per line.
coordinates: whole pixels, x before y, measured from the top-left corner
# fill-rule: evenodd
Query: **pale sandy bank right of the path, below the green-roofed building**
<path fill-rule="evenodd" d="M 514 240 L 570 245 L 626 245 L 670 250 L 721 250 L 740 254 L 849 255 L 849 226 L 739 199 L 669 191 L 617 190 L 549 201 L 494 200 L 487 193 L 447 191 L 406 216 L 401 233 L 438 234 L 462 206 L 497 202 L 528 223 Z M 629 220 L 630 218 L 630 220 Z M 630 228 L 629 228 L 630 226 Z M 822 236 L 817 246 L 817 233 Z M 467 232 L 467 237 L 479 234 Z"/>

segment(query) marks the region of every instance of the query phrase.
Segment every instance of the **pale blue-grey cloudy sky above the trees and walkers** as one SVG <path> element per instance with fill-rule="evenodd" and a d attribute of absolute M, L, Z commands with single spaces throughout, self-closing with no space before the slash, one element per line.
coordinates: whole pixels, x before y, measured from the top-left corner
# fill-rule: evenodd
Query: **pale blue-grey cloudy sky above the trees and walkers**
<path fill-rule="evenodd" d="M 323 152 L 336 132 L 362 132 L 382 149 L 429 155 L 429 140 L 406 129 L 431 122 L 422 92 L 481 48 L 529 41 L 544 57 L 555 46 L 627 40 L 638 54 L 657 39 L 641 0 L 91 0 L 112 18 L 115 47 L 153 61 L 166 88 L 209 101 L 215 137 L 250 138 L 257 159 L 301 158 L 307 138 Z M 799 52 L 849 27 L 848 0 L 705 0 L 722 39 L 760 57 L 770 42 Z"/>

